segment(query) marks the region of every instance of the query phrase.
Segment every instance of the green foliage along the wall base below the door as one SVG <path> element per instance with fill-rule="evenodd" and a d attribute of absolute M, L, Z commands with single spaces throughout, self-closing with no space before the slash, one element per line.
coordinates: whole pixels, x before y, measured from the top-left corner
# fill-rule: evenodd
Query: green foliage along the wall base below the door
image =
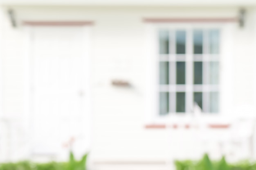
<path fill-rule="evenodd" d="M 0 170 L 86 170 L 85 154 L 81 160 L 74 159 L 74 155 L 70 152 L 70 160 L 68 162 L 49 162 L 49 163 L 32 163 L 30 161 L 22 161 L 18 163 L 1 163 Z"/>

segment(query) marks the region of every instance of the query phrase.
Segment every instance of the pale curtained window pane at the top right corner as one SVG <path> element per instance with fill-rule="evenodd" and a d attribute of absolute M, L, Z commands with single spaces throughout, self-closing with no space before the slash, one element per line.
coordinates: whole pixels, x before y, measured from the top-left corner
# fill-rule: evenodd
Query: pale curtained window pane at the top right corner
<path fill-rule="evenodd" d="M 209 31 L 209 53 L 218 54 L 219 53 L 219 31 L 210 30 Z"/>

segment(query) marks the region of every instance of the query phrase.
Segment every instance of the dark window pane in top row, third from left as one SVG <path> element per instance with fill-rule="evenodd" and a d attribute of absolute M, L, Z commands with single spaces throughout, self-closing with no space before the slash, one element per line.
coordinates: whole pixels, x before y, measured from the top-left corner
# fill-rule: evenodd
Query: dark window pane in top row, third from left
<path fill-rule="evenodd" d="M 194 42 L 194 54 L 203 53 L 203 31 L 193 31 L 193 42 Z"/>

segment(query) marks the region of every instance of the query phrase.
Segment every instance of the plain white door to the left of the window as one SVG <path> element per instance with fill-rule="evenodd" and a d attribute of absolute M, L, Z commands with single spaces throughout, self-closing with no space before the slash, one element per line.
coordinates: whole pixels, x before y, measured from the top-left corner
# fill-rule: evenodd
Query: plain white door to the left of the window
<path fill-rule="evenodd" d="M 82 26 L 31 29 L 32 152 L 66 157 L 90 141 L 88 37 Z"/>

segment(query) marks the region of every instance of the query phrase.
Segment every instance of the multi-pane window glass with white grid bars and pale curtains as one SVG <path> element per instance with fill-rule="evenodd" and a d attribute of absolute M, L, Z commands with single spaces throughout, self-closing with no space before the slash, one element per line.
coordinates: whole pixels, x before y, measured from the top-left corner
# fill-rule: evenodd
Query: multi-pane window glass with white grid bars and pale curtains
<path fill-rule="evenodd" d="M 159 115 L 219 112 L 220 30 L 158 31 Z"/>

